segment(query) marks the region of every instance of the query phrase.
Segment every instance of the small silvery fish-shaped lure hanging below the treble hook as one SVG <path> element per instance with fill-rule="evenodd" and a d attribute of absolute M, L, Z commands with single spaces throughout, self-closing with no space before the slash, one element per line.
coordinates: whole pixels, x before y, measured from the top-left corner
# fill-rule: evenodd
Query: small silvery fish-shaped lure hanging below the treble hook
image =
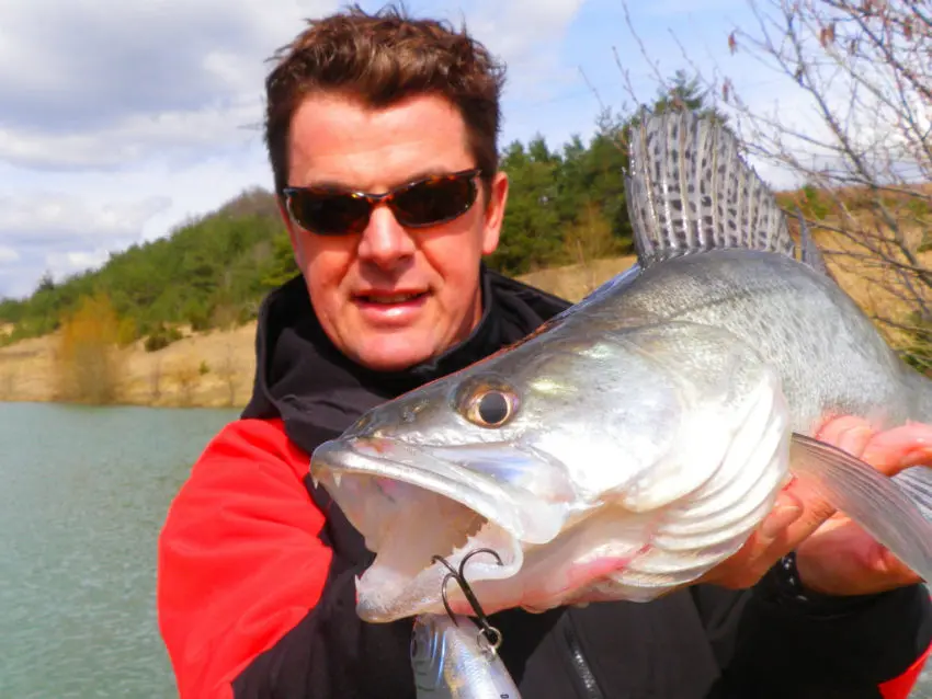
<path fill-rule="evenodd" d="M 411 632 L 418 699 L 521 699 L 496 650 L 465 615 L 419 615 Z"/>

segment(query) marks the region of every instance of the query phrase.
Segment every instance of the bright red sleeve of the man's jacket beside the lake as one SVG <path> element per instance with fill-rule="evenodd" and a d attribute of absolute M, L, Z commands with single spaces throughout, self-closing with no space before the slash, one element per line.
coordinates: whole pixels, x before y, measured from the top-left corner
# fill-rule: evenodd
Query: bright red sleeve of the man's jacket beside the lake
<path fill-rule="evenodd" d="M 182 699 L 231 697 L 237 675 L 320 598 L 331 552 L 303 482 L 308 463 L 280 421 L 240 420 L 173 501 L 157 601 Z"/>

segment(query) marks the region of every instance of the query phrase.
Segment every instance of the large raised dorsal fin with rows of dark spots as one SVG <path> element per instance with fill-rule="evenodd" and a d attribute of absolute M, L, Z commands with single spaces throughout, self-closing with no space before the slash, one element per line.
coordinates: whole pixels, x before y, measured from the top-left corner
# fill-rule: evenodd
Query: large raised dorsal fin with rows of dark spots
<path fill-rule="evenodd" d="M 643 112 L 632 129 L 625 193 L 644 267 L 721 248 L 796 256 L 776 199 L 717 118 Z"/>

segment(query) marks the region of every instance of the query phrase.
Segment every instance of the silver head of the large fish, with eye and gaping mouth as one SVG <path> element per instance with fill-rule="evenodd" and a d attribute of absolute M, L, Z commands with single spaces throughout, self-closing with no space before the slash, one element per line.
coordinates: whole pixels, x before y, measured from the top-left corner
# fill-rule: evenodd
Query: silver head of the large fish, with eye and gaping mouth
<path fill-rule="evenodd" d="M 778 386 L 755 355 L 714 329 L 683 335 L 561 325 L 320 445 L 312 479 L 376 554 L 359 615 L 441 614 L 444 595 L 471 614 L 463 578 L 489 614 L 545 609 L 644 553 L 719 468 L 749 405 L 780 428 Z"/>

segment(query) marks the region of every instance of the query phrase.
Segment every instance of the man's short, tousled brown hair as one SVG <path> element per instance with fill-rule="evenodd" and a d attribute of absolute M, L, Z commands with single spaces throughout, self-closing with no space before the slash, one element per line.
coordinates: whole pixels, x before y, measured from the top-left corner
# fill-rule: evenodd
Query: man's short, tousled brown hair
<path fill-rule="evenodd" d="M 320 20 L 281 48 L 265 80 L 265 145 L 275 190 L 287 186 L 292 117 L 308 94 L 342 92 L 371 107 L 436 94 L 461 113 L 468 147 L 488 184 L 498 169 L 499 95 L 504 66 L 466 33 L 404 10 L 359 5 Z"/>

